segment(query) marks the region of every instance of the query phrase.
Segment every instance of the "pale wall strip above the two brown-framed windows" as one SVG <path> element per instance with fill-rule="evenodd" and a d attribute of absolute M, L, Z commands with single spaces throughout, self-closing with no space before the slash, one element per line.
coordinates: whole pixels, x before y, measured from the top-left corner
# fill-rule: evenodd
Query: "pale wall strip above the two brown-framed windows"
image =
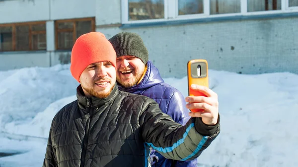
<path fill-rule="evenodd" d="M 4 0 L 0 24 L 94 17 L 95 4 L 96 0 Z"/>

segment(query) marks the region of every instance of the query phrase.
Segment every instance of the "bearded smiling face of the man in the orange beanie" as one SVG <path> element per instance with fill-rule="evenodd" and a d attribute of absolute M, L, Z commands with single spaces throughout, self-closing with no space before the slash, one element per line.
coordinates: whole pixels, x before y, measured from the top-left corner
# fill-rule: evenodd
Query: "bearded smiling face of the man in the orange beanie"
<path fill-rule="evenodd" d="M 116 69 L 109 61 L 88 65 L 80 77 L 80 84 L 87 97 L 106 98 L 116 82 Z"/>

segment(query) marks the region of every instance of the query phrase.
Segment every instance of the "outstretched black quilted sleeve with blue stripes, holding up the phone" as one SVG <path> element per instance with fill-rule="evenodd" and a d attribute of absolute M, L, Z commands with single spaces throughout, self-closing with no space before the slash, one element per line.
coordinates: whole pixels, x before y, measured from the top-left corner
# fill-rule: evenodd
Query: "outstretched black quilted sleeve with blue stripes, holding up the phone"
<path fill-rule="evenodd" d="M 140 116 L 142 137 L 146 144 L 167 159 L 194 160 L 220 133 L 220 120 L 208 126 L 201 118 L 191 118 L 184 126 L 160 111 L 157 103 L 147 99 Z"/>

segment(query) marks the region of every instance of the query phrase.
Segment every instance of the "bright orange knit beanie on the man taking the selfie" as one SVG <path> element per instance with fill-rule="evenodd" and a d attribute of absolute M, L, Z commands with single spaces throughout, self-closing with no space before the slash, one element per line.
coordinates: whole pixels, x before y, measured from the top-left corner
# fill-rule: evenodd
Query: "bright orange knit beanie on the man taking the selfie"
<path fill-rule="evenodd" d="M 83 70 L 99 61 L 110 61 L 116 68 L 116 52 L 104 34 L 90 32 L 78 37 L 71 56 L 71 72 L 74 79 L 79 82 Z"/>

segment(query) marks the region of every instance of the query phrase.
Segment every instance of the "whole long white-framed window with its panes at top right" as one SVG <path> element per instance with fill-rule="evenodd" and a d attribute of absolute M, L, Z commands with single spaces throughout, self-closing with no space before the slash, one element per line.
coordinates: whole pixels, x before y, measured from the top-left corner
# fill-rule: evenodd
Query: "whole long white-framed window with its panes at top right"
<path fill-rule="evenodd" d="M 298 12 L 298 0 L 121 0 L 122 23 Z"/>

